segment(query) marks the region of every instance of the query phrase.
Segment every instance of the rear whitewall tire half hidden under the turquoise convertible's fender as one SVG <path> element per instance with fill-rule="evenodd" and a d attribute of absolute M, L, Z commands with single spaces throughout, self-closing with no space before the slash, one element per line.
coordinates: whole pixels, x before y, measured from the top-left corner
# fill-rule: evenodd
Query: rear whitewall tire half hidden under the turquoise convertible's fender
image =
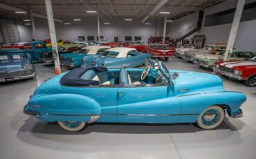
<path fill-rule="evenodd" d="M 86 122 L 58 122 L 60 127 L 66 131 L 77 132 L 84 129 Z"/>

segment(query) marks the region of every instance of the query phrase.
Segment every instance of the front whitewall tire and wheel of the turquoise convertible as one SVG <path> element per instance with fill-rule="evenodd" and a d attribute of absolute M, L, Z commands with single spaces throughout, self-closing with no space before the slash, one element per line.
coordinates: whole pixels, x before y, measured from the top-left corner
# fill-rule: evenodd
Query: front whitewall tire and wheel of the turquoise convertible
<path fill-rule="evenodd" d="M 221 106 L 210 106 L 199 115 L 196 124 L 201 129 L 214 129 L 218 127 L 225 118 L 225 111 Z"/>

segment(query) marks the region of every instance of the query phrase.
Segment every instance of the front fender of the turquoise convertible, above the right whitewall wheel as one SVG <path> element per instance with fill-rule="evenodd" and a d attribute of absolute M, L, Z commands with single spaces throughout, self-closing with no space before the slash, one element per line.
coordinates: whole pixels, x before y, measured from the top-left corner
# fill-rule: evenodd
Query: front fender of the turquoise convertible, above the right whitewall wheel
<path fill-rule="evenodd" d="M 226 109 L 228 115 L 239 111 L 241 104 L 246 101 L 246 95 L 232 91 L 214 91 L 205 93 L 189 93 L 176 96 L 181 101 L 179 122 L 196 122 L 198 115 L 208 106 L 219 105 Z M 186 116 L 185 114 L 192 114 Z"/>

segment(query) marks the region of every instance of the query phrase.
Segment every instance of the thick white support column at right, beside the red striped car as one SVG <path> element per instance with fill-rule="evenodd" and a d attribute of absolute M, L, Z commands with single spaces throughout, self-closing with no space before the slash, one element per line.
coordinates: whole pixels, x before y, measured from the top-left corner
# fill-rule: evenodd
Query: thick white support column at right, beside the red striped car
<path fill-rule="evenodd" d="M 228 54 L 232 53 L 232 48 L 235 43 L 235 37 L 237 36 L 237 30 L 238 30 L 240 19 L 241 19 L 241 14 L 244 10 L 245 2 L 246 2 L 246 0 L 239 0 L 237 2 L 237 9 L 235 10 L 235 16 L 234 16 L 232 27 L 230 30 L 230 35 L 228 37 L 228 45 L 226 48 L 226 52 L 224 54 L 224 59 L 223 59 L 224 61 L 226 61 L 228 59 Z"/>

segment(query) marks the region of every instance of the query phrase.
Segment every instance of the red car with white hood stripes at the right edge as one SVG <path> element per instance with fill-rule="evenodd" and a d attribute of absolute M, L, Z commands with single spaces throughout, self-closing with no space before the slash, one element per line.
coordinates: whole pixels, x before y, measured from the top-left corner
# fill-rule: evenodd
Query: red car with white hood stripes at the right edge
<path fill-rule="evenodd" d="M 244 81 L 246 86 L 256 86 L 256 55 L 246 61 L 217 64 L 214 73 Z"/>

